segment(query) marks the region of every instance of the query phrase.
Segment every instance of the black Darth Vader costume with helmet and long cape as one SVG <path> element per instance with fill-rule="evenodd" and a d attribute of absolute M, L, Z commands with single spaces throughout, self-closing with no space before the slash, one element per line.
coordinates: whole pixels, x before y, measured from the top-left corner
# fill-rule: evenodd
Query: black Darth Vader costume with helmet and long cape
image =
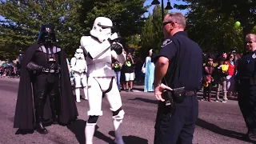
<path fill-rule="evenodd" d="M 23 55 L 14 128 L 47 134 L 43 122 L 67 125 L 78 116 L 66 56 L 54 42 L 53 27 L 42 25 L 37 43 Z"/>

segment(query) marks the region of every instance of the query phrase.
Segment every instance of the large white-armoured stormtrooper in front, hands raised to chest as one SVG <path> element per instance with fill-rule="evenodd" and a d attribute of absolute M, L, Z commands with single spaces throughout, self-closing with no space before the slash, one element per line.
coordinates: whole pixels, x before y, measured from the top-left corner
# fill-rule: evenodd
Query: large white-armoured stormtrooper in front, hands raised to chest
<path fill-rule="evenodd" d="M 95 125 L 98 116 L 102 115 L 102 98 L 106 96 L 113 112 L 115 130 L 115 143 L 123 144 L 122 140 L 122 100 L 115 80 L 114 70 L 111 67 L 111 57 L 118 62 L 125 62 L 126 57 L 122 52 L 122 45 L 118 43 L 118 34 L 111 33 L 112 21 L 109 18 L 98 17 L 90 31 L 90 36 L 81 38 L 81 46 L 84 48 L 88 75 L 88 102 L 90 116 L 86 123 L 86 144 L 93 143 Z"/>

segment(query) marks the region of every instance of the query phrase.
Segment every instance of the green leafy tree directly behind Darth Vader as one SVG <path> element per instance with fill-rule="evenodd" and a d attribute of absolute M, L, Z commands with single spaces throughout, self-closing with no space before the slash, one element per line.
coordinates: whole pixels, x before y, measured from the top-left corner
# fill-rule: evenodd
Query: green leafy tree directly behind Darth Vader
<path fill-rule="evenodd" d="M 68 53 L 79 46 L 83 31 L 78 22 L 78 0 L 9 0 L 0 3 L 0 51 L 17 55 L 36 42 L 42 24 L 55 27 L 58 44 Z"/>

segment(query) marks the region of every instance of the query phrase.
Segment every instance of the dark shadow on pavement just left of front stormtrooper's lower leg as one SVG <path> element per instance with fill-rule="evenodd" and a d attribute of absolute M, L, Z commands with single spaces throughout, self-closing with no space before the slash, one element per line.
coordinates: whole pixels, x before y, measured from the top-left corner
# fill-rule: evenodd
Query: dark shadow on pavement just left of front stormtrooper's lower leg
<path fill-rule="evenodd" d="M 75 138 L 77 138 L 80 144 L 86 143 L 85 129 L 86 121 L 78 119 L 72 122 L 69 126 L 66 126 L 72 133 L 74 133 Z"/>

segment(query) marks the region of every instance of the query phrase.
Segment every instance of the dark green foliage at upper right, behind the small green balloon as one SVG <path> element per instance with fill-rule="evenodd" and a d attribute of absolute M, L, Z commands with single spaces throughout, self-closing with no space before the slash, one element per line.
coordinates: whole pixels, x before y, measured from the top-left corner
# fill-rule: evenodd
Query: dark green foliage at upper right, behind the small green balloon
<path fill-rule="evenodd" d="M 182 0 L 189 5 L 175 5 L 178 9 L 189 8 L 186 15 L 190 38 L 207 51 L 236 48 L 242 52 L 246 34 L 256 25 L 256 2 L 251 0 Z M 234 28 L 234 22 L 242 26 Z"/>

